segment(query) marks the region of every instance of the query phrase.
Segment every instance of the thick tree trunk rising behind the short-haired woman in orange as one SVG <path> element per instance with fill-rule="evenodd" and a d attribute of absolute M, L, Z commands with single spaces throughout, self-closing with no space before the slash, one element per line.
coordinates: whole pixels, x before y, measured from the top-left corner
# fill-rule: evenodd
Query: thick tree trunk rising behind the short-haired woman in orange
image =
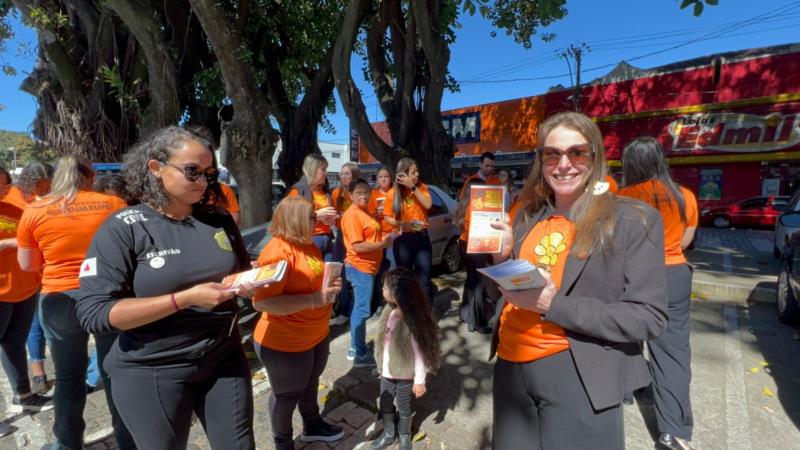
<path fill-rule="evenodd" d="M 234 24 L 216 0 L 190 0 L 208 36 L 233 104 L 233 118 L 223 124 L 222 163 L 239 182 L 241 224 L 257 225 L 272 215 L 272 155 L 278 133 L 269 123 L 269 105 L 252 67 L 241 55 Z"/>

